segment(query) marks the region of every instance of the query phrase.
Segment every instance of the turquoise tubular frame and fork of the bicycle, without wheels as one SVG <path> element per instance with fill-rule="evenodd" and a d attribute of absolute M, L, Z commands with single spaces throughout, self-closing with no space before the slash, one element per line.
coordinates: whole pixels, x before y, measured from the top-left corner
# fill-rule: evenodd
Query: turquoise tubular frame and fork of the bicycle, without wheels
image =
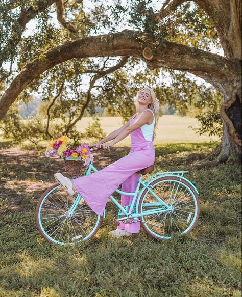
<path fill-rule="evenodd" d="M 85 172 L 85 175 L 89 175 L 91 174 L 91 171 L 94 171 L 94 172 L 98 172 L 98 170 L 93 166 L 92 163 L 89 164 L 88 166 L 88 169 L 87 171 Z M 146 180 L 147 181 L 147 180 Z M 140 217 L 140 213 L 137 212 L 137 209 L 136 209 L 136 212 L 135 213 L 132 213 L 133 212 L 133 209 L 134 209 L 134 203 L 135 203 L 135 200 L 136 200 L 136 196 L 138 194 L 138 191 L 139 191 L 139 188 L 140 186 L 143 186 L 143 190 L 144 188 L 147 188 L 148 192 L 150 192 L 159 202 L 154 202 L 154 203 L 146 203 L 146 204 L 149 204 L 149 206 L 155 206 L 155 205 L 162 205 L 162 207 L 160 208 L 156 208 L 154 210 L 147 210 L 147 211 L 143 211 L 142 212 L 142 215 L 149 215 L 149 214 L 155 214 L 155 213 L 160 213 L 160 212 L 165 212 L 165 211 L 169 211 L 172 209 L 172 207 L 168 206 L 162 199 L 160 199 L 160 197 L 158 197 L 152 190 L 151 188 L 149 187 L 149 184 L 147 184 L 147 182 L 144 182 L 142 181 L 142 174 L 140 175 L 139 177 L 139 180 L 138 180 L 138 185 L 136 187 L 136 190 L 135 192 L 132 192 L 132 193 L 129 193 L 129 192 L 124 192 L 124 191 L 120 191 L 120 190 L 116 190 L 115 192 L 118 193 L 118 194 L 121 194 L 121 195 L 126 195 L 126 196 L 133 196 L 133 200 L 131 202 L 131 205 L 130 205 L 130 208 L 129 208 L 129 211 L 126 211 L 126 209 L 120 204 L 117 202 L 117 200 L 111 195 L 109 198 L 110 200 L 117 206 L 117 208 L 120 209 L 120 211 L 122 211 L 126 217 L 129 217 L 129 218 L 137 218 L 137 217 Z M 143 191 L 141 191 L 141 193 L 139 194 L 139 197 L 137 198 L 137 201 L 139 201 L 139 198 L 141 196 Z M 68 214 L 71 215 L 76 207 L 78 206 L 79 202 L 81 200 L 81 195 L 79 194 L 77 196 L 77 199 L 74 201 L 74 203 L 72 204 L 72 206 L 70 207 L 69 211 L 68 211 Z M 103 217 L 105 218 L 105 211 L 104 211 L 104 215 Z M 125 220 L 126 218 L 122 218 L 122 220 Z M 121 220 L 120 220 L 121 221 Z"/>

